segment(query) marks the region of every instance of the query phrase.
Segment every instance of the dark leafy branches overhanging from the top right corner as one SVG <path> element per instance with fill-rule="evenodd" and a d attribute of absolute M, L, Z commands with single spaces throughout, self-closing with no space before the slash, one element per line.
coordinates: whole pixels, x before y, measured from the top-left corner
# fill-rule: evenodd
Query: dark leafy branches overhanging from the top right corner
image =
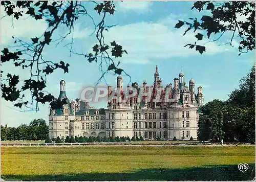
<path fill-rule="evenodd" d="M 207 39 L 208 42 L 219 40 L 223 34 L 229 35 L 229 40 L 225 44 L 234 46 L 235 37 L 240 38 L 238 45 L 239 55 L 247 53 L 255 49 L 255 3 L 249 1 L 237 2 L 209 2 L 197 1 L 191 8 L 198 11 L 206 10 L 207 15 L 203 15 L 200 20 L 197 18 L 189 18 L 188 21 L 181 21 L 176 24 L 175 28 L 181 28 L 186 25 L 188 28 L 184 35 L 190 31 L 199 32 L 195 35 L 197 41 L 195 43 L 186 44 L 189 49 L 196 49 L 200 54 L 206 51 L 206 47 L 197 44 L 199 41 Z M 207 11 L 208 10 L 208 11 Z M 210 15 L 208 15 L 210 14 Z M 244 16 L 245 20 L 240 20 L 239 16 Z M 201 34 L 202 33 L 202 34 Z M 204 35 L 206 33 L 206 35 Z M 210 38 L 212 40 L 210 40 Z"/>

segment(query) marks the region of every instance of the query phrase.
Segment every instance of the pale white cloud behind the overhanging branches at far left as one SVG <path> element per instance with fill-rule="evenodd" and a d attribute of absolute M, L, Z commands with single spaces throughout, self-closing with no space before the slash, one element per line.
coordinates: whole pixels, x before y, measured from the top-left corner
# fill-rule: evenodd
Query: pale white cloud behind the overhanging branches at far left
<path fill-rule="evenodd" d="M 4 7 L 1 6 L 1 18 L 4 15 Z M 13 22 L 13 27 L 12 27 Z M 47 29 L 45 20 L 35 20 L 27 14 L 23 14 L 18 20 L 9 16 L 1 19 L 1 44 L 9 44 L 12 36 L 18 38 L 31 38 L 40 36 Z"/>

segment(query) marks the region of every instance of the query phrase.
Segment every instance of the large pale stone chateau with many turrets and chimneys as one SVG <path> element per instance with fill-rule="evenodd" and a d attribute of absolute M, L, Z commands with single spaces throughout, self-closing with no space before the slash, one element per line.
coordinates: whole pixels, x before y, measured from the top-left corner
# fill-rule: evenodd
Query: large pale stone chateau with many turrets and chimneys
<path fill-rule="evenodd" d="M 145 140 L 161 139 L 197 140 L 200 107 L 203 106 L 202 87 L 195 93 L 195 81 L 185 83 L 185 75 L 174 78 L 174 86 L 163 86 L 158 67 L 154 74 L 154 84 L 148 86 L 143 81 L 139 87 L 135 82 L 127 86 L 129 94 L 125 97 L 123 79 L 117 77 L 117 90 L 108 86 L 108 108 L 94 108 L 88 102 L 76 99 L 61 109 L 49 107 L 50 138 L 80 136 L 127 137 L 142 136 Z M 135 89 L 136 88 L 136 89 Z M 116 93 L 115 93 L 116 92 Z M 65 81 L 60 81 L 58 100 L 68 99 Z"/>

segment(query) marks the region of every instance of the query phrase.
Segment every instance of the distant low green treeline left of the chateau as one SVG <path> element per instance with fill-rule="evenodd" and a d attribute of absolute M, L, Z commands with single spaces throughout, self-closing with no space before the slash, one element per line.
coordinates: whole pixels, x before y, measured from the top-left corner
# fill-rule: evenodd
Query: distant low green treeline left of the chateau
<path fill-rule="evenodd" d="M 22 124 L 15 127 L 1 125 L 1 140 L 46 140 L 49 135 L 49 128 L 44 119 L 35 119 L 29 125 Z"/>

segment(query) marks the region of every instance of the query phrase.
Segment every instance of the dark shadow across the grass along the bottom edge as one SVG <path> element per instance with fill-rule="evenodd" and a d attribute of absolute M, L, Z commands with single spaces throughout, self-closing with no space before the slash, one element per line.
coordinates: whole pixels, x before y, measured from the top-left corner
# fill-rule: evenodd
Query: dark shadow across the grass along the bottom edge
<path fill-rule="evenodd" d="M 215 165 L 205 168 L 142 169 L 131 173 L 79 173 L 59 175 L 3 175 L 6 180 L 252 180 L 255 164 L 249 164 L 244 173 L 237 165 Z"/>

